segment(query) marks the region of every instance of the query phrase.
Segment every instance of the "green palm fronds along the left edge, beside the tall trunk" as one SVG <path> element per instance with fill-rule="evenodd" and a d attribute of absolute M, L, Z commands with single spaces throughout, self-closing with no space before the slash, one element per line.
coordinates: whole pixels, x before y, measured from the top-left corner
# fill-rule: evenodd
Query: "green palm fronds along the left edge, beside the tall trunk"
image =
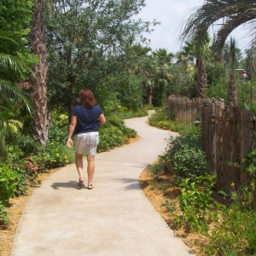
<path fill-rule="evenodd" d="M 30 70 L 26 57 L 6 54 L 2 47 L 12 43 L 20 48 L 15 39 L 13 33 L 0 31 L 0 159 L 3 161 L 8 157 L 7 140 L 19 136 L 22 127 L 22 123 L 14 119 L 15 106 L 24 104 L 28 111 L 31 109 L 29 97 L 15 84 L 15 78 Z"/>

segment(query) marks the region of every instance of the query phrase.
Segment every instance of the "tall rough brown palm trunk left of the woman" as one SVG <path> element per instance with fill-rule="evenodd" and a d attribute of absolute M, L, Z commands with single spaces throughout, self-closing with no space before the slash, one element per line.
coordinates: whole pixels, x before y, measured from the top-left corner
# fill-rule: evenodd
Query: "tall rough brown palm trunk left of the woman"
<path fill-rule="evenodd" d="M 49 117 L 47 110 L 47 50 L 44 42 L 44 0 L 34 0 L 34 19 L 32 23 L 32 53 L 38 55 L 38 65 L 32 67 L 32 127 L 39 143 L 45 146 L 48 140 Z"/>

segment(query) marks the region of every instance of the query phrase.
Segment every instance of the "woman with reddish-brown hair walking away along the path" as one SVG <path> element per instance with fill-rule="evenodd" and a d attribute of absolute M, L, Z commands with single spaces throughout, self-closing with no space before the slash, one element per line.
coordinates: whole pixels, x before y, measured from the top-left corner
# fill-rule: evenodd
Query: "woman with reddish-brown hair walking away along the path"
<path fill-rule="evenodd" d="M 75 134 L 75 162 L 79 172 L 78 189 L 84 184 L 83 155 L 87 155 L 88 187 L 93 189 L 92 178 L 95 171 L 95 154 L 99 143 L 98 124 L 106 124 L 106 118 L 96 104 L 93 93 L 90 90 L 80 90 L 79 105 L 73 108 L 71 121 L 68 129 L 67 147 L 73 147 L 72 136 Z"/>

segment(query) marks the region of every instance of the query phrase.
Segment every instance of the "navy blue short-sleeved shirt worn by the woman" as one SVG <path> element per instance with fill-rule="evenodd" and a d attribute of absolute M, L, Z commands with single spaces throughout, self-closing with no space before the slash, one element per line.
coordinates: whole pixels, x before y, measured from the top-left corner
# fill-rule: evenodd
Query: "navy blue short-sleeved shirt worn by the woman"
<path fill-rule="evenodd" d="M 77 117 L 77 125 L 74 134 L 98 131 L 98 119 L 102 108 L 96 105 L 94 108 L 87 109 L 83 106 L 75 106 L 72 114 Z"/>

